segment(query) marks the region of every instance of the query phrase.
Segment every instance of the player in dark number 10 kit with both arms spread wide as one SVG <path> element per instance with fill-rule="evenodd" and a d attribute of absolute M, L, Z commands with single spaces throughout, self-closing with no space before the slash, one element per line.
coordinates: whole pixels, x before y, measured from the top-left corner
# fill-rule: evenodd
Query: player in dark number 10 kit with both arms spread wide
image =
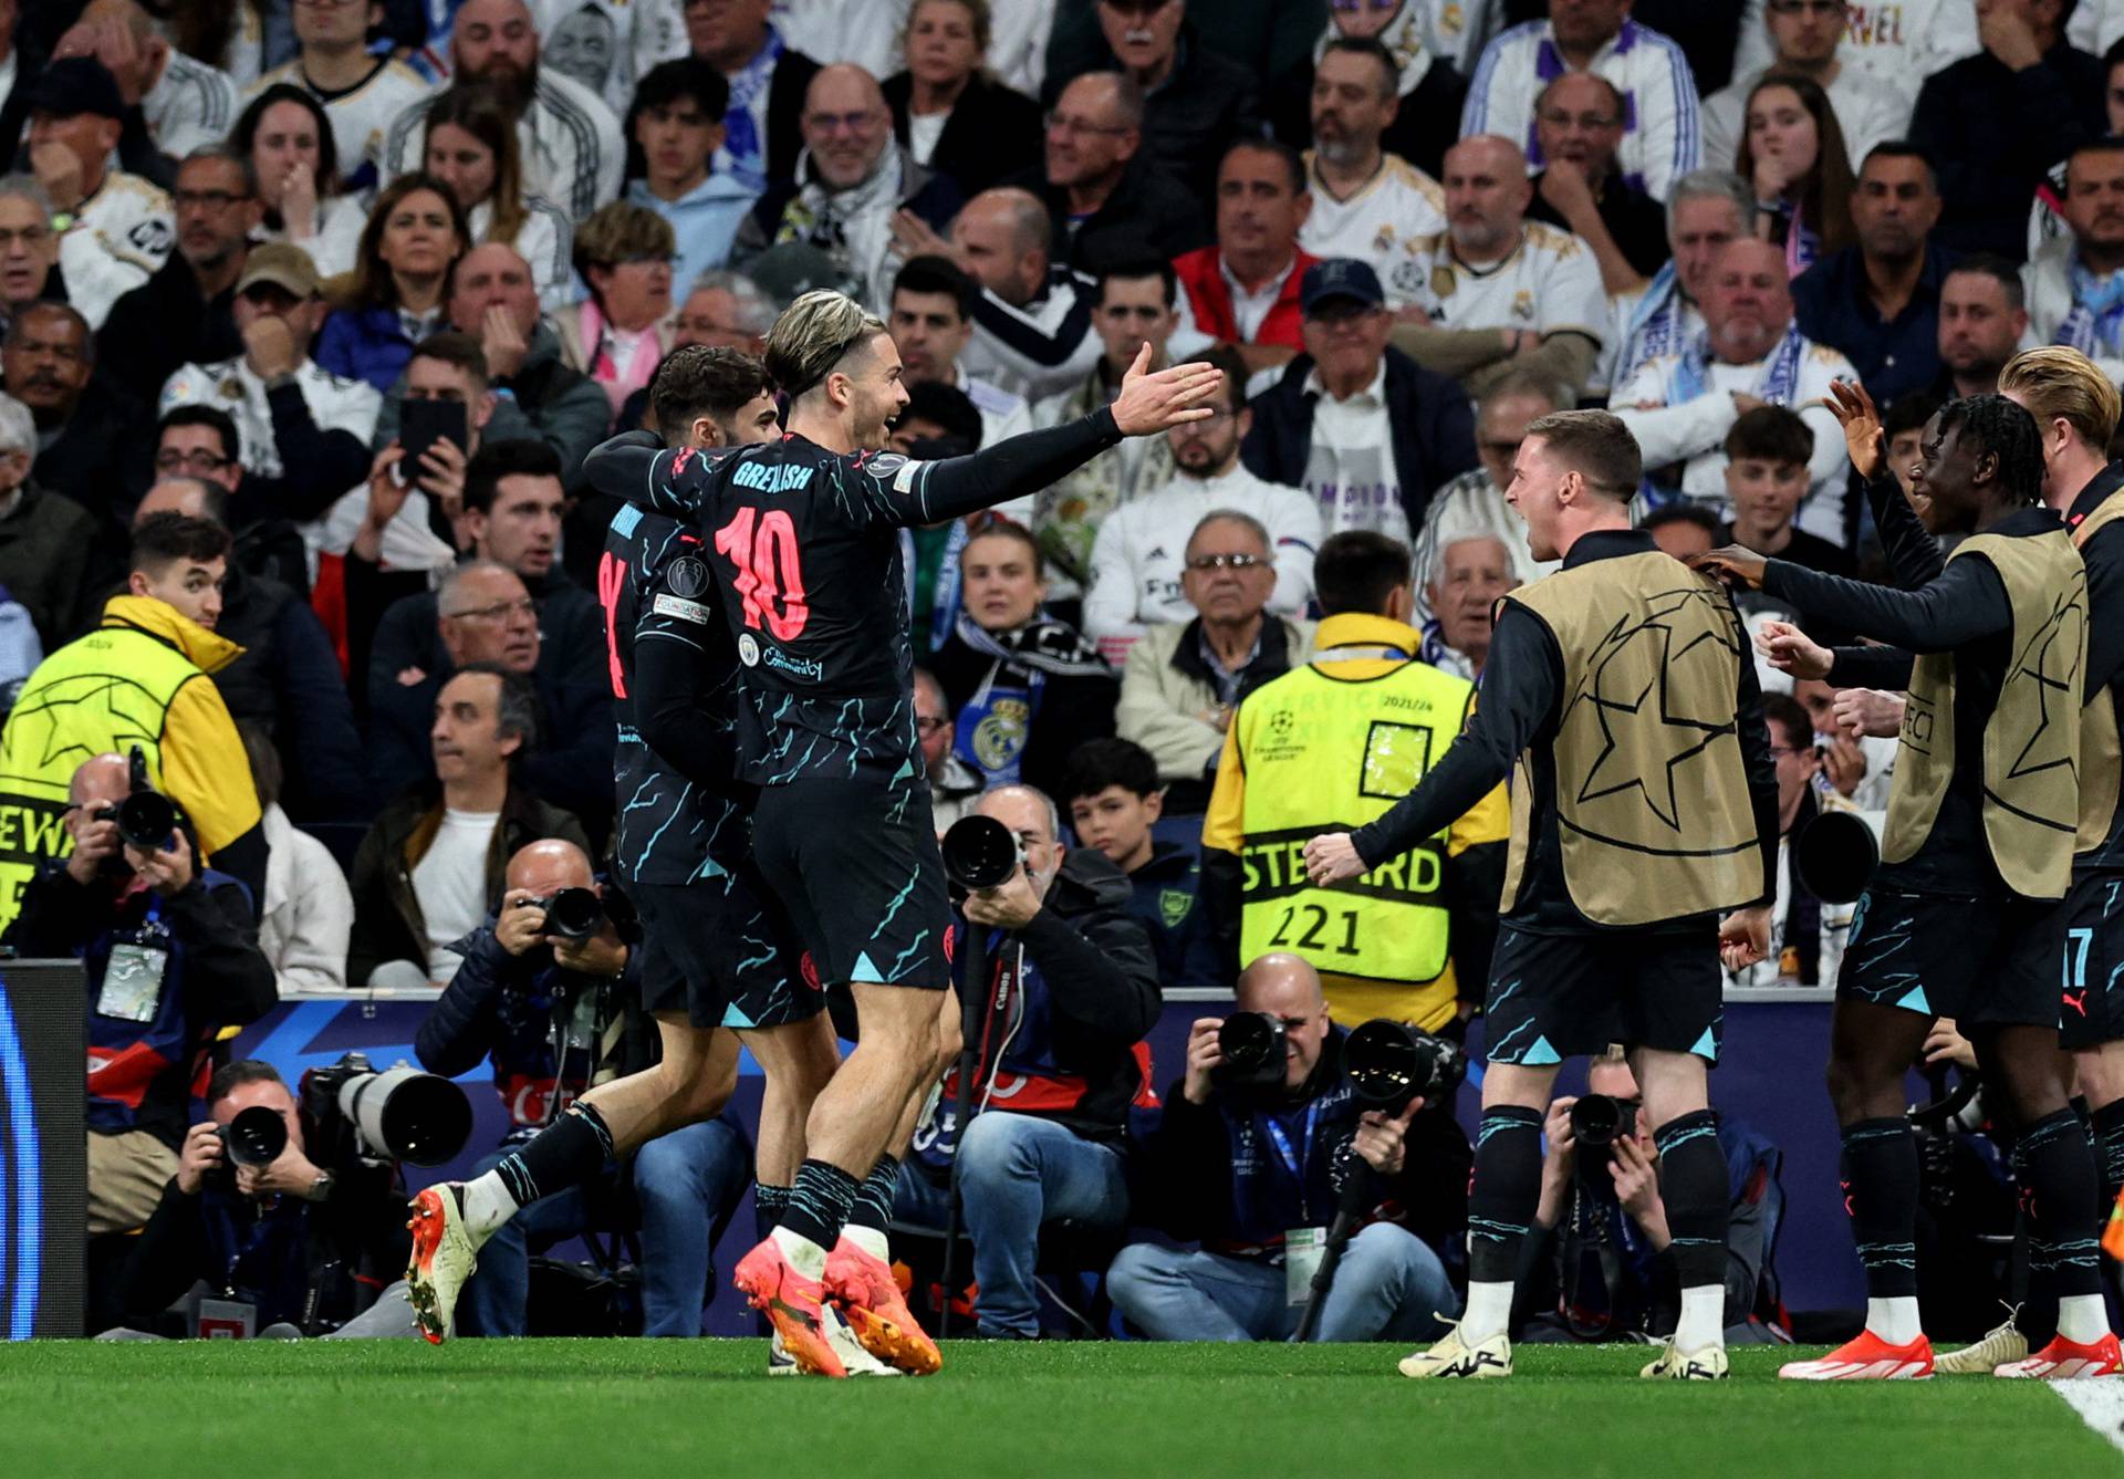
<path fill-rule="evenodd" d="M 807 1158 L 782 1226 L 739 1260 L 735 1284 L 767 1313 L 801 1371 L 843 1375 L 822 1334 L 830 1296 L 867 1349 L 935 1371 L 935 1343 L 905 1313 L 884 1239 L 843 1228 L 858 1196 L 890 1207 L 886 1154 L 941 1050 L 949 905 L 915 759 L 913 650 L 898 529 L 979 512 L 1047 487 L 1124 436 L 1211 412 L 1209 366 L 1124 376 L 1111 408 L 973 457 L 881 455 L 907 404 L 886 325 L 854 300 L 799 298 L 767 338 L 788 395 L 771 446 L 650 453 L 607 442 L 586 472 L 603 493 L 699 523 L 737 633 L 741 774 L 760 786 L 752 850 L 828 982 L 847 982 L 860 1041 L 818 1096 Z M 913 988 L 913 990 L 905 990 Z M 871 1243 L 864 1247 L 864 1243 Z"/>

